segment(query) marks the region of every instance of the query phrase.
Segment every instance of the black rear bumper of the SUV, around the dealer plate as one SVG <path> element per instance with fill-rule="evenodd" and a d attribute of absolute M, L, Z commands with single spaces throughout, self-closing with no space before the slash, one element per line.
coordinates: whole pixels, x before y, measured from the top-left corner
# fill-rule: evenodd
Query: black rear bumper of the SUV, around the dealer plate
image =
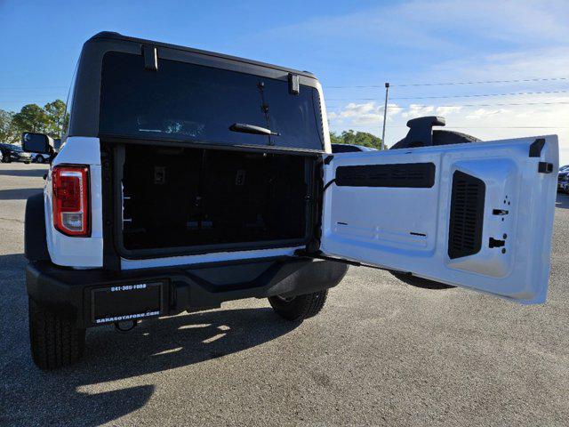
<path fill-rule="evenodd" d="M 91 327 L 100 325 L 93 319 L 95 289 L 163 283 L 160 316 L 168 316 L 242 298 L 317 292 L 338 285 L 347 270 L 341 262 L 290 257 L 123 271 L 69 270 L 51 262 L 33 262 L 28 264 L 26 283 L 34 301 L 73 320 L 77 327 Z M 127 311 L 125 315 L 132 314 Z"/>

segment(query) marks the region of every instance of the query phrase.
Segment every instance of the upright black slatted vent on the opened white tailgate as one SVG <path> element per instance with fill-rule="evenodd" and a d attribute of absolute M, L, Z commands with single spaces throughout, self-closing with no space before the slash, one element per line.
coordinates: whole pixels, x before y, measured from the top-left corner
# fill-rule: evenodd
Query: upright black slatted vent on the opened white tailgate
<path fill-rule="evenodd" d="M 448 230 L 448 256 L 451 259 L 477 254 L 480 251 L 485 191 L 484 181 L 468 173 L 453 173 Z"/>

